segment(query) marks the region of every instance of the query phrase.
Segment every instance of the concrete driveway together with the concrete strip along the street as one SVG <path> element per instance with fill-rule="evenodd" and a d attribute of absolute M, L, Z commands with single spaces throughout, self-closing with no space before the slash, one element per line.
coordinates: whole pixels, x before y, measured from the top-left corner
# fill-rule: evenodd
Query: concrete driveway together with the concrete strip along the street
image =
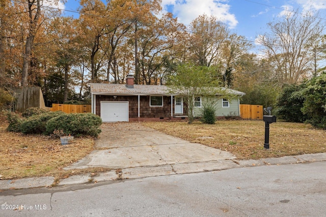
<path fill-rule="evenodd" d="M 64 169 L 112 169 L 95 176 L 70 176 L 57 185 L 326 161 L 326 153 L 239 161 L 227 151 L 169 136 L 138 122 L 103 123 L 101 129 L 95 140 L 97 150 Z M 0 190 L 47 187 L 54 181 L 54 177 L 0 180 Z"/>

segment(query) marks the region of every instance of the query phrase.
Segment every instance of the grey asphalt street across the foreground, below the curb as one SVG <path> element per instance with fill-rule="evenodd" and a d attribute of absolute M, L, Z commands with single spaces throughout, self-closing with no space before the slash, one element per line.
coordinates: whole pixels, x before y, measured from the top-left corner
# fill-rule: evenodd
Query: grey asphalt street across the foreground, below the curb
<path fill-rule="evenodd" d="M 1 216 L 325 216 L 326 162 L 0 193 Z"/>

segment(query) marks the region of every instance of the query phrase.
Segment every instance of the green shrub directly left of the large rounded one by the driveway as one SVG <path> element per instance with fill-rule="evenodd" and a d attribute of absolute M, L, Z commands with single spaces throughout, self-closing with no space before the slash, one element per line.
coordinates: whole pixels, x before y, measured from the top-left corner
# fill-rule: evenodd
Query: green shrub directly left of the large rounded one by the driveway
<path fill-rule="evenodd" d="M 20 130 L 24 134 L 42 134 L 46 130 L 46 123 L 54 117 L 65 114 L 62 111 L 46 112 L 27 118 L 20 125 Z"/>

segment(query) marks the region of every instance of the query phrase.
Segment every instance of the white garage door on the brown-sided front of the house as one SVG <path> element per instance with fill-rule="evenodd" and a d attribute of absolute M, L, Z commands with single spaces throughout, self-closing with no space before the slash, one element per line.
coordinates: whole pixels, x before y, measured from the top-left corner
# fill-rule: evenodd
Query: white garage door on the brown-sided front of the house
<path fill-rule="evenodd" d="M 128 102 L 101 102 L 103 122 L 128 121 Z"/>

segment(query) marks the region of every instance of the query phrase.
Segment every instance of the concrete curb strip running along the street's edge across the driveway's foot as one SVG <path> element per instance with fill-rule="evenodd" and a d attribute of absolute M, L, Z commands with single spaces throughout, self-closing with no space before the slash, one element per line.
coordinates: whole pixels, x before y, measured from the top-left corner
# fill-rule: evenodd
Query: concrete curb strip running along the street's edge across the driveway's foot
<path fill-rule="evenodd" d="M 99 173 L 73 175 L 60 180 L 57 186 L 95 183 L 99 181 L 115 181 L 121 179 L 144 178 L 164 175 L 177 175 L 185 173 L 198 173 L 207 171 L 219 171 L 240 167 L 256 167 L 266 165 L 300 164 L 326 161 L 326 153 L 302 154 L 298 156 L 287 156 L 281 158 L 267 158 L 259 160 L 219 160 L 195 163 L 166 164 L 155 166 L 142 166 L 123 168 L 122 170 L 110 170 Z M 29 189 L 51 187 L 55 178 L 51 176 L 0 180 L 0 190 Z"/>

